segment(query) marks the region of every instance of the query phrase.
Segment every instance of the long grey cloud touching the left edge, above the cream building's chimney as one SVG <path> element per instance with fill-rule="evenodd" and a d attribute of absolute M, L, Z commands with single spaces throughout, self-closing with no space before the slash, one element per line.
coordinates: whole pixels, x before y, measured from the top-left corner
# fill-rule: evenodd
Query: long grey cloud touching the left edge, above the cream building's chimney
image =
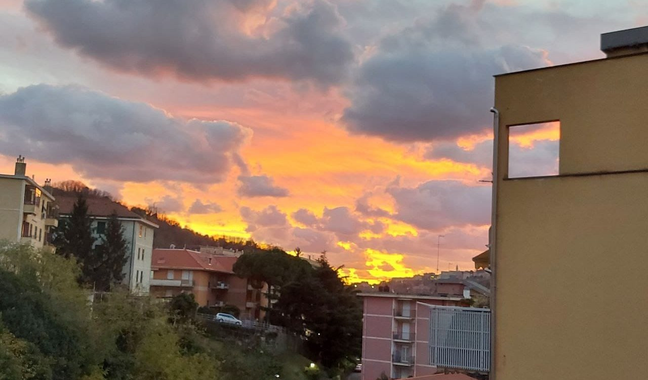
<path fill-rule="evenodd" d="M 185 121 L 144 103 L 51 85 L 0 96 L 0 126 L 6 154 L 131 182 L 220 182 L 251 136 L 230 121 Z"/>

